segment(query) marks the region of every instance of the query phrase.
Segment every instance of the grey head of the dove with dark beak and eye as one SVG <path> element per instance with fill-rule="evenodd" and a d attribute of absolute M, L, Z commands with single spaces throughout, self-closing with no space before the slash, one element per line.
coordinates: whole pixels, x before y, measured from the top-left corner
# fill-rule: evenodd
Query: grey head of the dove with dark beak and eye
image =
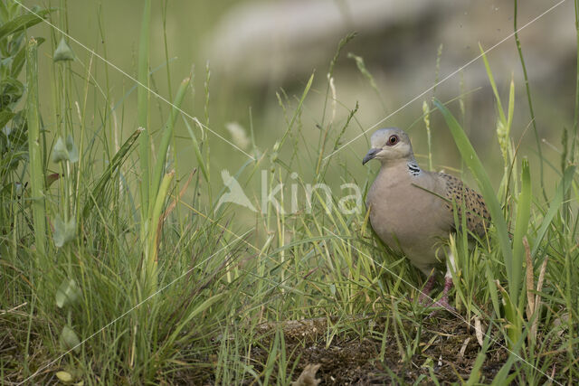
<path fill-rule="evenodd" d="M 371 159 L 378 159 L 383 164 L 398 159 L 413 158 L 413 146 L 408 135 L 398 127 L 376 130 L 370 138 L 372 148 L 362 160 L 362 165 Z"/>

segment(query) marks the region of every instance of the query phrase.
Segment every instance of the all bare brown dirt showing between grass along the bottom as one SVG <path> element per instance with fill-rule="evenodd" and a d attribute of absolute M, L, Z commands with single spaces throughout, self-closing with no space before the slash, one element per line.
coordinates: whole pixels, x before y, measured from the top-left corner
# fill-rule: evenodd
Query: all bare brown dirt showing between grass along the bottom
<path fill-rule="evenodd" d="M 358 332 L 352 333 L 349 329 L 349 332 L 336 334 L 328 346 L 326 318 L 259 325 L 258 335 L 254 337 L 257 338 L 257 344 L 252 348 L 250 359 L 253 371 L 263 376 L 262 363 L 268 362 L 272 338 L 276 331 L 281 330 L 286 348 L 287 372 L 290 372 L 289 377 L 294 381 L 293 386 L 412 384 L 416 381 L 420 384 L 434 384 L 431 374 L 434 374 L 441 384 L 461 383 L 469 379 L 480 347 L 474 329 L 469 331 L 463 321 L 430 318 L 424 321 L 421 327 L 420 342 L 414 342 L 414 337 L 418 334 L 416 325 L 407 323 L 399 326 L 398 328 L 403 328 L 410 337 L 409 344 L 418 344 L 410 358 L 404 357 L 405 353 L 411 350 L 407 350 L 405 342 L 396 340 L 393 325 L 389 325 L 391 336 L 384 342 L 384 320 L 366 317 L 363 321 L 352 321 L 352 325 L 367 326 L 368 321 L 374 324 L 375 334 L 366 331 L 362 334 L 366 337 L 360 338 Z M 348 322 L 348 327 L 350 326 Z M 493 339 L 497 343 L 491 345 L 480 368 L 479 382 L 482 383 L 490 383 L 508 358 L 508 351 L 503 346 L 500 335 L 493 336 Z M 170 372 L 168 378 L 167 374 L 159 374 L 159 383 L 214 385 L 214 365 L 218 362 L 216 353 L 220 344 L 221 341 L 216 339 L 214 353 L 203 358 L 191 358 L 191 363 L 196 362 L 197 365 Z M 0 342 L 0 353 L 3 352 L 2 346 L 3 342 Z M 384 353 L 383 357 L 381 353 Z M 555 362 L 559 362 L 557 369 L 565 367 L 561 365 L 562 361 L 563 359 L 559 361 L 555 358 Z M 314 371 L 310 372 L 309 377 L 300 379 L 308 365 L 309 370 L 315 366 Z M 41 382 L 55 381 L 53 373 L 57 368 L 58 365 L 47 370 L 47 373 L 52 375 L 47 374 L 49 378 L 44 378 L 46 382 Z M 277 370 L 274 369 L 272 374 L 276 373 Z M 317 380 L 320 382 L 317 383 Z M 247 384 L 256 385 L 258 382 L 252 379 Z"/>

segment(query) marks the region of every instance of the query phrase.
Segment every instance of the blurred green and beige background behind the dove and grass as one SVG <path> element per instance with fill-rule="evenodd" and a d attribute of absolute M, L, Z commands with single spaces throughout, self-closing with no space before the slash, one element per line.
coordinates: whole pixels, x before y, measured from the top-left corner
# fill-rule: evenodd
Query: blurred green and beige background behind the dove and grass
<path fill-rule="evenodd" d="M 58 8 L 60 3 L 57 3 L 44 5 Z M 562 132 L 564 127 L 572 128 L 574 118 L 573 3 L 566 1 L 557 5 L 559 2 L 554 0 L 519 3 L 519 27 L 556 5 L 524 28 L 519 37 L 542 149 L 547 160 L 559 165 Z M 119 69 L 136 76 L 142 2 L 85 0 L 66 5 L 68 14 L 52 14 L 52 23 L 60 25 Z M 341 130 L 357 102 L 359 109 L 346 127 L 342 143 L 386 118 L 377 127 L 398 126 L 408 130 L 422 165 L 426 165 L 427 154 L 422 103 L 430 103 L 432 97 L 443 102 L 456 99 L 449 107 L 470 133 L 492 177 L 493 168 L 502 165 L 496 139 L 497 112 L 483 61 L 473 60 L 479 56 L 479 44 L 489 49 L 513 33 L 513 8 L 513 2 L 504 0 L 154 1 L 151 87 L 164 98 L 173 98 L 171 93 L 176 92 L 179 82 L 193 71 L 194 88 L 185 99 L 185 111 L 227 139 L 232 139 L 232 132 L 227 129 L 232 122 L 248 133 L 252 127 L 256 146 L 265 151 L 280 140 L 297 100 L 314 74 L 299 117 L 306 142 L 311 136 L 317 144 L 320 127 L 326 129 L 330 121 L 332 131 Z M 61 38 L 46 24 L 32 31 L 45 37 L 52 35 L 54 42 Z M 336 103 L 325 108 L 330 62 L 338 42 L 353 32 L 357 33 L 356 37 L 344 46 L 333 71 Z M 136 129 L 137 97 L 134 91 L 128 94 L 135 86 L 134 81 L 105 66 L 100 59 L 91 58 L 90 52 L 75 42 L 70 44 L 77 57 L 72 66 L 79 78 L 85 77 L 89 65 L 93 71 L 87 104 L 87 111 L 93 114 L 90 129 L 97 133 L 99 117 L 107 108 L 119 106 L 114 119 L 109 121 L 109 129 L 128 137 Z M 52 62 L 51 45 L 43 44 L 39 56 L 41 105 L 50 111 L 53 91 L 49 80 L 55 74 L 46 64 Z M 519 152 L 529 156 L 536 173 L 536 140 L 529 126 L 527 95 L 514 38 L 498 44 L 488 53 L 488 58 L 505 108 L 511 77 L 515 80 L 511 134 L 516 143 L 523 137 Z M 371 79 L 360 71 L 361 61 Z M 459 71 L 467 63 L 470 64 Z M 167 66 L 170 79 L 167 79 Z M 210 71 L 208 105 L 205 103 L 207 69 Z M 436 80 L 444 81 L 431 89 Z M 431 90 L 424 93 L 427 89 Z M 79 100 L 70 101 L 71 109 L 75 109 L 75 102 L 80 103 L 82 95 L 83 90 L 79 89 Z M 407 104 L 412 99 L 415 100 Z M 280 100 L 287 111 L 280 107 Z M 158 130 L 166 120 L 169 107 L 151 96 L 151 111 L 159 112 L 151 114 L 151 129 L 157 133 L 154 139 L 158 141 Z M 397 112 L 393 114 L 394 111 Z M 49 130 L 58 125 L 58 118 L 49 114 L 44 114 L 43 119 Z M 434 168 L 460 168 L 460 156 L 439 113 L 432 114 L 431 127 Z M 183 175 L 196 165 L 196 160 L 182 120 L 176 127 L 176 135 L 183 138 L 176 142 L 178 172 Z M 214 182 L 223 186 L 220 171 L 237 170 L 247 157 L 211 133 L 205 132 L 204 136 L 211 146 L 209 167 Z M 359 171 L 367 175 L 367 167 L 360 163 L 366 150 L 367 139 L 361 137 L 333 155 L 332 163 L 346 163 L 353 174 Z M 371 166 L 374 171 L 377 167 Z M 554 174 L 548 165 L 546 171 L 547 179 L 549 174 Z M 310 172 L 299 171 L 306 174 L 306 179 Z M 496 179 L 495 183 L 498 183 Z"/>

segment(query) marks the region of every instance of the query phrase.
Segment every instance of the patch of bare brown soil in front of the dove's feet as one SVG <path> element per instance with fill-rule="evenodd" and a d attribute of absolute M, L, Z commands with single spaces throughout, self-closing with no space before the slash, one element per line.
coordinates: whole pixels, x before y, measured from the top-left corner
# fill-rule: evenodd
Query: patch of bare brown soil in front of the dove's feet
<path fill-rule="evenodd" d="M 324 324 L 321 320 L 318 322 Z M 405 328 L 412 331 L 413 326 Z M 419 380 L 428 384 L 431 372 L 439 381 L 460 382 L 470 377 L 480 348 L 474 331 L 469 332 L 464 323 L 452 320 L 433 320 L 423 325 L 421 348 L 416 350 L 419 354 L 408 360 L 403 360 L 404 343 L 399 345 L 394 333 L 392 339 L 386 340 L 384 348 L 382 340 L 352 339 L 347 334 L 337 336 L 326 347 L 324 336 L 317 334 L 324 334 L 326 326 L 317 326 L 315 321 L 291 322 L 284 325 L 283 330 L 289 362 L 299 355 L 292 379 L 296 381 L 308 364 L 319 364 L 316 373 L 316 379 L 321 381 L 319 384 L 399 384 Z M 375 331 L 384 331 L 383 322 L 375 325 Z M 389 331 L 393 331 L 392 326 Z M 507 360 L 508 352 L 500 344 L 487 353 L 487 360 L 480 369 L 480 381 L 491 381 Z M 384 361 L 380 360 L 382 350 Z M 263 349 L 255 349 L 252 354 L 257 361 L 260 358 L 261 362 L 267 361 L 268 353 Z M 302 384 L 307 383 L 299 383 L 299 386 Z"/>

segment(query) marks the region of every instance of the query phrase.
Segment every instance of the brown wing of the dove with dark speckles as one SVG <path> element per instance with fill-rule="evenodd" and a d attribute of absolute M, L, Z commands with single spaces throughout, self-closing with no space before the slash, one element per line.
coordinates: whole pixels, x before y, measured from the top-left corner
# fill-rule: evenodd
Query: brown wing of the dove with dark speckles
<path fill-rule="evenodd" d="M 457 177 L 444 173 L 439 173 L 439 175 L 446 183 L 445 194 L 448 201 L 445 201 L 444 204 L 451 211 L 452 217 L 454 217 L 452 202 L 456 202 L 460 221 L 460 212 L 462 211 L 462 202 L 464 200 L 467 228 L 477 236 L 484 237 L 486 230 L 489 228 L 490 214 L 482 195 L 463 184 Z"/>

